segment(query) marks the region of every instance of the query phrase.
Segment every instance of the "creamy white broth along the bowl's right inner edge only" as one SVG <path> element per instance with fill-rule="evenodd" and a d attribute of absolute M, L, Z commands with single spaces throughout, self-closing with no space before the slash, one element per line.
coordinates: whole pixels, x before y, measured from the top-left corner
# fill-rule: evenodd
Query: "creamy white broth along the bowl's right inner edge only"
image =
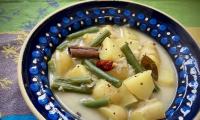
<path fill-rule="evenodd" d="M 141 42 L 145 41 L 153 41 L 152 38 L 150 38 L 147 35 L 144 35 L 142 33 L 139 33 L 140 36 L 140 40 Z M 168 53 L 162 48 L 162 46 L 160 46 L 159 44 L 157 44 L 157 50 L 160 56 L 160 68 L 159 68 L 159 77 L 164 75 L 165 69 L 171 69 L 171 71 L 173 71 L 173 76 L 170 76 L 171 78 L 168 79 L 172 79 L 173 81 L 173 85 L 172 86 L 166 86 L 163 84 L 159 84 L 160 87 L 160 93 L 159 94 L 153 94 L 153 96 L 155 96 L 156 98 L 158 98 L 159 100 L 161 100 L 164 105 L 165 105 L 165 109 L 167 110 L 169 108 L 169 106 L 171 105 L 174 97 L 175 97 L 175 93 L 176 93 L 176 87 L 177 87 L 177 74 L 176 74 L 176 70 L 175 67 L 173 65 L 173 62 L 171 60 L 171 58 L 169 57 Z M 159 78 L 158 78 L 159 81 Z"/>

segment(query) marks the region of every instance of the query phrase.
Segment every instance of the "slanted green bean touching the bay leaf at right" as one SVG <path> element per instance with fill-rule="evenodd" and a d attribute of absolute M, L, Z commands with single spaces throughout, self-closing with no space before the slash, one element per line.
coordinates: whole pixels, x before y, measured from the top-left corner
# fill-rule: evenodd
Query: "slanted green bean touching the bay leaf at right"
<path fill-rule="evenodd" d="M 124 53 L 124 55 L 125 55 L 128 63 L 132 66 L 133 69 L 135 69 L 136 73 L 144 71 L 144 69 L 142 68 L 142 66 L 139 64 L 139 62 L 137 61 L 137 59 L 133 55 L 131 49 L 128 46 L 128 43 L 125 43 L 121 47 L 121 51 Z"/>

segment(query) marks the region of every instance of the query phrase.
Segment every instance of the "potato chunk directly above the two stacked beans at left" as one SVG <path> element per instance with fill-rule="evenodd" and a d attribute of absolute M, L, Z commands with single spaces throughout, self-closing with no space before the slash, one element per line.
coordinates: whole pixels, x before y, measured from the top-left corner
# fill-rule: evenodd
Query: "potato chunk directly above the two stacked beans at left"
<path fill-rule="evenodd" d="M 77 77 L 90 77 L 90 72 L 81 64 L 77 64 L 72 70 L 67 72 L 65 75 L 67 78 L 77 78 Z"/>

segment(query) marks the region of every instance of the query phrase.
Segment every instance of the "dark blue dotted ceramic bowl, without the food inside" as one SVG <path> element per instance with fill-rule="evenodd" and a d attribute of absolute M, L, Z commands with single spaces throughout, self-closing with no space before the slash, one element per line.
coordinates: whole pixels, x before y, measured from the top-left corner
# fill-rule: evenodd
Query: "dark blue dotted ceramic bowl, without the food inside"
<path fill-rule="evenodd" d="M 149 7 L 123 1 L 78 3 L 59 10 L 35 27 L 22 48 L 18 70 L 22 95 L 33 113 L 39 119 L 75 119 L 49 89 L 47 62 L 67 35 L 102 24 L 129 24 L 163 46 L 178 75 L 176 97 L 166 111 L 167 119 L 191 120 L 200 106 L 199 47 L 170 17 Z"/>

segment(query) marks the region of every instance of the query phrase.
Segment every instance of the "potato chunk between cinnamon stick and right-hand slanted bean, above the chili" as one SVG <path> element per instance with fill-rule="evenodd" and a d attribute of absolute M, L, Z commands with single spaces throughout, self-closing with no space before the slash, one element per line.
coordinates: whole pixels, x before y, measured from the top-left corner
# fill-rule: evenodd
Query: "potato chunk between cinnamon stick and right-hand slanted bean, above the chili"
<path fill-rule="evenodd" d="M 114 40 L 106 38 L 102 45 L 102 49 L 99 50 L 100 59 L 116 61 L 122 57 L 122 52 Z"/>

